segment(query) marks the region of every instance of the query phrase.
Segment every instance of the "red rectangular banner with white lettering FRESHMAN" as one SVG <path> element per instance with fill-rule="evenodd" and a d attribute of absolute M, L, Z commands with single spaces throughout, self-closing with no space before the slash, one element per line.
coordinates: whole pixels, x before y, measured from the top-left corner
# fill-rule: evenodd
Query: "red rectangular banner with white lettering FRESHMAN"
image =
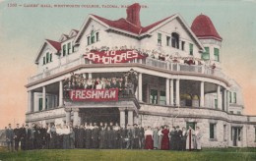
<path fill-rule="evenodd" d="M 118 101 L 118 88 L 76 89 L 69 91 L 73 101 Z"/>

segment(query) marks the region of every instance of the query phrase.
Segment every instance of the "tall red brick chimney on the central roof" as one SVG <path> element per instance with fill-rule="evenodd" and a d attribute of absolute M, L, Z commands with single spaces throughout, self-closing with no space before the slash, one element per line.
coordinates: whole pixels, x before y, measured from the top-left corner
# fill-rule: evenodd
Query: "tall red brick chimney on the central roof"
<path fill-rule="evenodd" d="M 137 27 L 141 27 L 140 10 L 141 10 L 141 6 L 139 3 L 135 3 L 126 9 L 126 13 L 127 13 L 126 20 Z"/>

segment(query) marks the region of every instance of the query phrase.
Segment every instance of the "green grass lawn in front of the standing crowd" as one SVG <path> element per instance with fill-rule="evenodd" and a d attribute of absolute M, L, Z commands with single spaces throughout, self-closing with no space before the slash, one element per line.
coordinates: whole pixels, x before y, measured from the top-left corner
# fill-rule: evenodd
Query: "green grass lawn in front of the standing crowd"
<path fill-rule="evenodd" d="M 110 161 L 256 161 L 256 148 L 213 148 L 202 151 L 162 151 L 162 150 L 98 150 L 98 149 L 69 149 L 69 150 L 30 150 L 8 152 L 0 147 L 0 161 L 5 160 L 110 160 Z"/>

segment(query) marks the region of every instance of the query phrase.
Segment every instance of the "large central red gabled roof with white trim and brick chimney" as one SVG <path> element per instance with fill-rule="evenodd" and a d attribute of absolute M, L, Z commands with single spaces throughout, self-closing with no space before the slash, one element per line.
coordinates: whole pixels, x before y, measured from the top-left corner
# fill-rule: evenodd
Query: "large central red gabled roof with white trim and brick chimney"
<path fill-rule="evenodd" d="M 159 27 L 164 26 L 166 23 L 178 19 L 179 22 L 182 24 L 182 26 L 186 29 L 189 35 L 192 36 L 192 39 L 196 41 L 196 44 L 199 46 L 199 48 L 204 51 L 204 47 L 202 43 L 199 41 L 197 36 L 193 33 L 190 27 L 186 25 L 184 20 L 179 14 L 174 14 L 172 16 L 169 16 L 167 18 L 164 18 L 150 26 L 147 27 L 141 27 L 140 25 L 140 17 L 139 17 L 139 11 L 140 6 L 139 4 L 135 3 L 127 8 L 127 19 L 121 18 L 115 21 L 108 20 L 96 15 L 90 15 L 83 26 L 80 28 L 79 33 L 77 34 L 74 42 L 75 44 L 79 43 L 81 37 L 83 36 L 86 28 L 90 25 L 91 21 L 94 20 L 97 23 L 101 24 L 103 27 L 106 28 L 106 30 L 116 30 L 118 32 L 122 32 L 124 34 L 129 34 L 133 37 L 142 38 L 145 35 L 151 35 L 151 32 L 156 30 Z M 130 21 L 128 21 L 130 20 Z"/>

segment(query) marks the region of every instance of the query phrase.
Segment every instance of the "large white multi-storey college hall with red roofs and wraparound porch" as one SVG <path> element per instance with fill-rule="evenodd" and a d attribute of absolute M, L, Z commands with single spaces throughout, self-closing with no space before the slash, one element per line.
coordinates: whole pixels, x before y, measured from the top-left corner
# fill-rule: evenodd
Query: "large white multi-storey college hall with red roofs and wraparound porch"
<path fill-rule="evenodd" d="M 117 122 L 200 127 L 204 147 L 255 147 L 256 117 L 243 115 L 241 87 L 222 72 L 222 40 L 209 17 L 189 27 L 179 14 L 142 27 L 89 15 L 45 39 L 29 79 L 28 124 Z"/>

